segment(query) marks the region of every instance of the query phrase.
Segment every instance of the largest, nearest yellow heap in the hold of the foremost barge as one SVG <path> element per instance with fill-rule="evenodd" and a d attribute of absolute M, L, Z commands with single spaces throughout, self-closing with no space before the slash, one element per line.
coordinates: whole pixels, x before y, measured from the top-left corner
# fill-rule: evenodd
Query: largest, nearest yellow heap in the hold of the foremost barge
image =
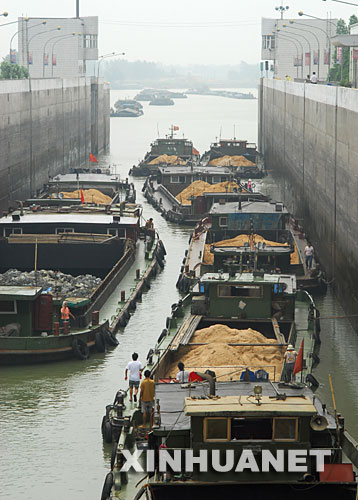
<path fill-rule="evenodd" d="M 178 352 L 175 361 L 169 367 L 168 376 L 175 377 L 178 372 L 177 363 L 182 361 L 185 369 L 203 371 L 212 369 L 219 381 L 238 380 L 246 368 L 256 371 L 260 368 L 270 374 L 270 379 L 278 380 L 283 366 L 285 349 L 279 346 L 233 346 L 229 344 L 276 344 L 260 332 L 248 328 L 237 330 L 226 325 L 216 324 L 198 330 L 190 343 L 205 344 L 183 348 Z M 184 351 L 185 349 L 185 351 Z M 183 353 L 185 352 L 185 354 Z M 237 371 L 236 368 L 237 368 Z M 235 372 L 235 373 L 233 373 Z"/>

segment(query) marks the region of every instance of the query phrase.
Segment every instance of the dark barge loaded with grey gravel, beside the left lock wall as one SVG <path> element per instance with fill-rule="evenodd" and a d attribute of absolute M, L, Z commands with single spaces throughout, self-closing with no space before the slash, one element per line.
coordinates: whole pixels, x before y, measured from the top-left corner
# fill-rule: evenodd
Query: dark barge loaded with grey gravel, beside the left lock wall
<path fill-rule="evenodd" d="M 114 333 L 164 266 L 164 246 L 156 233 L 144 236 L 140 206 L 38 201 L 0 218 L 0 365 L 85 359 L 116 345 Z M 63 301 L 71 325 L 61 322 Z"/>

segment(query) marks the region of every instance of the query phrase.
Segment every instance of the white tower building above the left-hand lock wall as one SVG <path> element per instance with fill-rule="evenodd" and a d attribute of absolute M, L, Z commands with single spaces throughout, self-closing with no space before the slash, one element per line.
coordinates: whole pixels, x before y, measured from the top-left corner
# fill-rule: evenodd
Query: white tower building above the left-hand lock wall
<path fill-rule="evenodd" d="M 98 59 L 98 17 L 18 18 L 19 64 L 32 78 L 83 76 Z"/>

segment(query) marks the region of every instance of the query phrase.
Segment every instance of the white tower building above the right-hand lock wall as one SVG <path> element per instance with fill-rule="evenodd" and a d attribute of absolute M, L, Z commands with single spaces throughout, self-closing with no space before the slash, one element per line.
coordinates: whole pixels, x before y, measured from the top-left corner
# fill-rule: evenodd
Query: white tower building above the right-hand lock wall
<path fill-rule="evenodd" d="M 275 78 L 305 79 L 315 72 L 326 80 L 336 24 L 337 19 L 262 18 L 261 58 L 271 62 Z"/>

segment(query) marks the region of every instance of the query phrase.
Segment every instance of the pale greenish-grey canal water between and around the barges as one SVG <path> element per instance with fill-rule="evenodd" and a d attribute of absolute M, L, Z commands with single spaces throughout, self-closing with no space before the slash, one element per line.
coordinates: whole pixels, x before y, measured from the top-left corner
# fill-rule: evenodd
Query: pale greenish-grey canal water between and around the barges
<path fill-rule="evenodd" d="M 113 91 L 118 98 L 133 91 Z M 100 158 L 126 177 L 129 168 L 146 153 L 158 134 L 179 126 L 203 153 L 218 137 L 257 140 L 257 101 L 190 96 L 172 107 L 143 103 L 140 118 L 111 119 L 111 151 Z M 143 295 L 127 327 L 119 334 L 120 345 L 106 355 L 87 361 L 39 366 L 0 368 L 0 498 L 21 500 L 98 500 L 109 471 L 111 446 L 104 445 L 100 431 L 106 404 L 126 387 L 124 369 L 131 353 L 145 361 L 148 350 L 165 327 L 170 306 L 179 298 L 175 283 L 188 244 L 190 230 L 165 221 L 146 202 L 142 180 L 134 180 L 145 217 L 153 217 L 167 249 L 166 265 Z M 275 185 L 265 179 L 263 189 L 275 196 Z M 317 297 L 322 318 L 343 315 L 331 291 Z M 333 376 L 339 411 L 358 438 L 357 376 L 358 339 L 345 319 L 322 319 L 321 363 L 315 375 L 330 405 L 328 373 Z M 126 498 L 133 498 L 128 493 Z"/>

